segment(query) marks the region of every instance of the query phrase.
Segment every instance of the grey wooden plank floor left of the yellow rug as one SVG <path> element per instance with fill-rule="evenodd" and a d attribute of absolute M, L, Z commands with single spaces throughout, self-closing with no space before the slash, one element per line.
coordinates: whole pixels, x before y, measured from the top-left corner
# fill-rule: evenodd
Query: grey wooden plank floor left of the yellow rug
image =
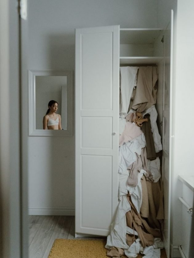
<path fill-rule="evenodd" d="M 56 238 L 75 238 L 74 216 L 29 216 L 29 258 L 47 258 Z"/>

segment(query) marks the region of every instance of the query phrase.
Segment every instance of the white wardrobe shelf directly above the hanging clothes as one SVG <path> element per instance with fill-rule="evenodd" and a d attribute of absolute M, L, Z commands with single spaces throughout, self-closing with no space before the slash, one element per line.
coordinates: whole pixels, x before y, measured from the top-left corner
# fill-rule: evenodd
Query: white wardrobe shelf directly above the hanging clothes
<path fill-rule="evenodd" d="M 120 57 L 120 64 L 155 64 L 163 59 L 164 57 Z"/>

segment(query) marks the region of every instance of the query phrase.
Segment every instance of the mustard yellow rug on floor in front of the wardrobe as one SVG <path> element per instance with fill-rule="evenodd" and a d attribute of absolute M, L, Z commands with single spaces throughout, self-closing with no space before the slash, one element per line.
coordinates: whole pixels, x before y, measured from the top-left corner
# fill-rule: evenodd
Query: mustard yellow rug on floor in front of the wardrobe
<path fill-rule="evenodd" d="M 48 258 L 107 258 L 106 240 L 56 239 Z M 126 258 L 127 256 L 121 256 Z M 138 254 L 137 258 L 143 256 Z M 161 258 L 166 258 L 161 250 Z"/>

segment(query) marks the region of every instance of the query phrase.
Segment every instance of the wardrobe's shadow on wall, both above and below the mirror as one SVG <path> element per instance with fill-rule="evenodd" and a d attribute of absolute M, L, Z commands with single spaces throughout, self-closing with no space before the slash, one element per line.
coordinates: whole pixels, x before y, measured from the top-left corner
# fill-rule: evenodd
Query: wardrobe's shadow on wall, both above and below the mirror
<path fill-rule="evenodd" d="M 53 70 L 75 70 L 75 34 L 55 33 L 48 35 L 46 49 L 47 68 Z M 73 128 L 74 135 L 74 128 Z M 75 209 L 75 150 L 74 136 L 50 137 L 48 183 L 50 207 L 68 210 Z M 48 189 L 48 188 L 47 188 Z M 62 211 L 63 212 L 63 211 Z"/>

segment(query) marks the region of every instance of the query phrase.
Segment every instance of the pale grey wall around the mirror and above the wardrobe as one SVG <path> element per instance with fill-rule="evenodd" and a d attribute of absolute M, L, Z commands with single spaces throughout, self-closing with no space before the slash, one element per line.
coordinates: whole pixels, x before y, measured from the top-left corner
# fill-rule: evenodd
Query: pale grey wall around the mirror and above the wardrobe
<path fill-rule="evenodd" d="M 29 0 L 28 69 L 75 70 L 75 28 L 156 27 L 155 0 Z M 26 117 L 27 121 L 27 117 Z M 73 214 L 75 140 L 29 137 L 30 214 Z"/>

